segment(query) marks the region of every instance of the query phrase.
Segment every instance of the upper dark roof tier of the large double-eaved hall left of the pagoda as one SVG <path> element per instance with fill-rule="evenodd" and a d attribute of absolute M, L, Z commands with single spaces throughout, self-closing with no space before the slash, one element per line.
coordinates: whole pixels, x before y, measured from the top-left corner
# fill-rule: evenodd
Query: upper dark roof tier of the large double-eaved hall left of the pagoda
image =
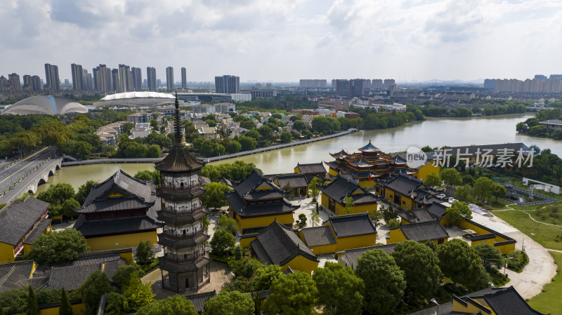
<path fill-rule="evenodd" d="M 154 203 L 154 198 L 152 196 L 154 185 L 152 185 L 151 182 L 138 180 L 119 169 L 111 177 L 107 178 L 105 182 L 91 187 L 90 194 L 86 197 L 83 208 L 89 206 L 93 201 L 105 200 L 105 198 L 103 198 L 104 194 L 114 188 L 131 197 L 138 196 L 145 203 Z"/>

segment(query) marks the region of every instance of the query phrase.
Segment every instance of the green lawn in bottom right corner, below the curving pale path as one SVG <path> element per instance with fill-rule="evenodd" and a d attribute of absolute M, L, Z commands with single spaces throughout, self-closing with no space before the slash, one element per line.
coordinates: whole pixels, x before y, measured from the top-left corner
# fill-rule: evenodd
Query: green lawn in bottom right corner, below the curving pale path
<path fill-rule="evenodd" d="M 544 286 L 542 293 L 529 300 L 529 305 L 544 314 L 562 314 L 562 275 L 560 266 L 562 265 L 562 253 L 549 252 L 554 257 L 554 262 L 558 264 L 556 276 L 552 282 Z"/>

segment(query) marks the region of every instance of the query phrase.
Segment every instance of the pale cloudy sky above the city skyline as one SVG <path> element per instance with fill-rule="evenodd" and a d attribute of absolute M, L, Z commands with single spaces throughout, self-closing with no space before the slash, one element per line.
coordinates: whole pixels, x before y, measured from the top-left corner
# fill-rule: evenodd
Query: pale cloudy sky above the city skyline
<path fill-rule="evenodd" d="M 2 0 L 0 74 L 72 62 L 188 81 L 562 73 L 560 0 Z"/>

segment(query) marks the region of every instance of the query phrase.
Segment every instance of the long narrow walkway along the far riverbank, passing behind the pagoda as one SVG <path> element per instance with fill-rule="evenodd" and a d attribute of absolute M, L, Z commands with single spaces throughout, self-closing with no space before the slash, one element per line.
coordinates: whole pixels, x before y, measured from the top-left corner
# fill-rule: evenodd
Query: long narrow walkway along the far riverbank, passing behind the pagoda
<path fill-rule="evenodd" d="M 282 149 L 282 148 L 285 148 L 285 147 L 295 147 L 297 145 L 306 145 L 306 144 L 312 143 L 312 142 L 318 142 L 318 141 L 322 141 L 322 140 L 341 137 L 342 135 L 348 135 L 350 133 L 355 133 L 356 131 L 358 131 L 358 130 L 355 129 L 355 128 L 351 128 L 351 129 L 348 129 L 346 131 L 342 131 L 341 133 L 334 133 L 333 135 L 324 135 L 324 136 L 318 137 L 318 138 L 311 138 L 311 139 L 307 139 L 307 140 L 283 143 L 282 145 L 272 145 L 270 147 L 262 147 L 262 148 L 255 149 L 255 150 L 243 151 L 243 152 L 238 152 L 238 153 L 233 153 L 233 154 L 225 154 L 225 155 L 221 155 L 221 156 L 213 156 L 213 157 L 210 157 L 210 158 L 205 158 L 205 159 L 203 159 L 203 161 L 205 161 L 205 163 L 209 163 L 209 162 L 221 161 L 221 160 L 226 160 L 226 159 L 233 159 L 233 158 L 237 158 L 237 157 L 240 157 L 240 156 L 246 156 L 246 155 L 251 155 L 251 154 L 256 154 L 256 153 L 261 153 L 261 152 L 272 151 L 272 150 L 276 150 L 276 149 Z M 154 163 L 154 162 L 157 162 L 157 161 L 160 161 L 160 160 L 162 160 L 162 158 L 155 158 L 155 159 L 91 159 L 91 160 L 84 160 L 84 161 L 65 161 L 65 162 L 63 162 L 63 166 L 77 166 L 77 165 L 97 164 L 97 163 Z"/>

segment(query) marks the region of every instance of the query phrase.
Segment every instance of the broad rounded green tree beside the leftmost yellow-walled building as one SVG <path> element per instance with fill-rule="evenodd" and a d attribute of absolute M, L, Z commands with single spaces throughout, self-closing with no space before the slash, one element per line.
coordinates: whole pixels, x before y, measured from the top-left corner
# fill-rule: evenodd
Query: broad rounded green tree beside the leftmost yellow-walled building
<path fill-rule="evenodd" d="M 48 265 L 53 262 L 70 262 L 77 259 L 79 254 L 89 252 L 86 239 L 80 232 L 76 229 L 63 229 L 41 234 L 32 243 L 30 253 L 25 257 Z"/>

